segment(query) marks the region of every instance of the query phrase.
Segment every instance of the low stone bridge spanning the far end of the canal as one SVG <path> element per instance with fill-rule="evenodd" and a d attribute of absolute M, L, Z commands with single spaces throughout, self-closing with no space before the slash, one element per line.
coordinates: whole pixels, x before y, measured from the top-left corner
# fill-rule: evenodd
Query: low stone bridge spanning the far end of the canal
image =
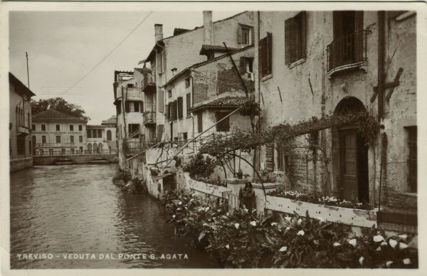
<path fill-rule="evenodd" d="M 58 155 L 34 155 L 33 165 L 55 165 L 55 164 L 89 164 L 89 163 L 116 163 L 119 161 L 115 154 L 58 154 Z"/>

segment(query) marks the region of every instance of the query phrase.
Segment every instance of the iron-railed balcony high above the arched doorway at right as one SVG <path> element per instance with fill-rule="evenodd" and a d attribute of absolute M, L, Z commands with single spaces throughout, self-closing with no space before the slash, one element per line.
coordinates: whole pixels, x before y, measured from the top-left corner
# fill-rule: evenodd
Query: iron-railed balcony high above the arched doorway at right
<path fill-rule="evenodd" d="M 334 39 L 327 46 L 327 75 L 367 66 L 367 34 L 369 30 L 357 31 Z"/>

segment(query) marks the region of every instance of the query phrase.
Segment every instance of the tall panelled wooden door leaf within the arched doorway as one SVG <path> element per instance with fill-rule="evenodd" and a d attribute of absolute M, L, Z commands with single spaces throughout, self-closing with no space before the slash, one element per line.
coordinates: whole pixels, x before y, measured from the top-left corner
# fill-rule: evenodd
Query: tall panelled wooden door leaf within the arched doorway
<path fill-rule="evenodd" d="M 341 179 L 342 198 L 352 201 L 358 199 L 357 132 L 343 131 L 341 139 Z"/>

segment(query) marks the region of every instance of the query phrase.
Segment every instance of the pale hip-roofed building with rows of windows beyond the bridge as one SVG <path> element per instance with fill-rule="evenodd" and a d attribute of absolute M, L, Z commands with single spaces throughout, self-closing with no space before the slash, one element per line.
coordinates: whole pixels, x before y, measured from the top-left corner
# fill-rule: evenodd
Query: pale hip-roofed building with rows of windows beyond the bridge
<path fill-rule="evenodd" d="M 34 155 L 83 154 L 86 121 L 57 110 L 33 116 L 31 124 Z"/>

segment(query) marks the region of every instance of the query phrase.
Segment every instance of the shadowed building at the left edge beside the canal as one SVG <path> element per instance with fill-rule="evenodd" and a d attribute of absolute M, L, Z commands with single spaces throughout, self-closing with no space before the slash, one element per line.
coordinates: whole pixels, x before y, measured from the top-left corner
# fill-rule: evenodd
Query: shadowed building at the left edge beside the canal
<path fill-rule="evenodd" d="M 31 97 L 29 90 L 9 73 L 9 171 L 33 166 L 31 141 Z"/>

